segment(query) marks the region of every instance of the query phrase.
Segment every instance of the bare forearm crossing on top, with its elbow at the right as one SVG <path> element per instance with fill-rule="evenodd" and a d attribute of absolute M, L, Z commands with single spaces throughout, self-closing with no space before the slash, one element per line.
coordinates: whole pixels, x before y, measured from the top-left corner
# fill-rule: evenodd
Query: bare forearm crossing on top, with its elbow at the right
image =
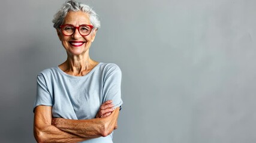
<path fill-rule="evenodd" d="M 94 136 L 107 136 L 117 128 L 119 107 L 103 118 L 88 120 L 71 120 L 55 118 L 52 121 L 56 128 L 80 136 L 82 138 L 93 138 Z"/>

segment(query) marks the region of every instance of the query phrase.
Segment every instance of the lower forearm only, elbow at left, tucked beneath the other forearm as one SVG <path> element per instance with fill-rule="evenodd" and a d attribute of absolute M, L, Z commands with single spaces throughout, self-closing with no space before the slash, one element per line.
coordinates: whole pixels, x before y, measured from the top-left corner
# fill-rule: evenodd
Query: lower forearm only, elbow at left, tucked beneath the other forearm
<path fill-rule="evenodd" d="M 37 142 L 81 142 L 87 140 L 86 138 L 63 132 L 52 125 L 35 126 L 34 136 Z"/>

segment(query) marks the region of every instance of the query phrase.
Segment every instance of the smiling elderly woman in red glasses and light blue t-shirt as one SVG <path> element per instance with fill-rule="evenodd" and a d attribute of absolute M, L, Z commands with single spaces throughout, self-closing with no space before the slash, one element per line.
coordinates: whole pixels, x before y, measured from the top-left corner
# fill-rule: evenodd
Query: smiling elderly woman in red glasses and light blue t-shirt
<path fill-rule="evenodd" d="M 112 141 L 121 109 L 121 70 L 89 57 L 100 21 L 88 5 L 66 1 L 53 19 L 67 60 L 37 76 L 38 142 Z"/>

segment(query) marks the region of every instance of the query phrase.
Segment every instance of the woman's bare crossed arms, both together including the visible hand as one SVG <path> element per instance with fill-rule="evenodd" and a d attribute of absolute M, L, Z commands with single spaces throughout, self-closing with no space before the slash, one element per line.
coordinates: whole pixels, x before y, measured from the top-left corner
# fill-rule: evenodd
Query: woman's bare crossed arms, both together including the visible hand
<path fill-rule="evenodd" d="M 119 108 L 104 102 L 95 119 L 71 120 L 52 118 L 52 107 L 39 105 L 34 114 L 34 136 L 37 142 L 81 142 L 107 136 L 117 128 Z"/>

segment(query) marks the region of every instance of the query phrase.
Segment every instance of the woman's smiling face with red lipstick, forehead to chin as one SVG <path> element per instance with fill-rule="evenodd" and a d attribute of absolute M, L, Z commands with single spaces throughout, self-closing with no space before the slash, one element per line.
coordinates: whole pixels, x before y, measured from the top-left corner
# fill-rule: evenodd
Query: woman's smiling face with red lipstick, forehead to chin
<path fill-rule="evenodd" d="M 89 14 L 83 13 L 82 11 L 70 11 L 64 19 L 65 24 L 71 24 L 73 26 L 79 27 L 83 24 L 91 25 Z M 92 32 L 87 36 L 82 36 L 79 30 L 76 31 L 71 36 L 65 36 L 60 29 L 57 29 L 59 39 L 62 45 L 66 49 L 68 54 L 71 55 L 83 55 L 85 53 L 89 54 L 89 48 L 91 43 L 94 41 L 97 30 L 92 29 Z"/>

